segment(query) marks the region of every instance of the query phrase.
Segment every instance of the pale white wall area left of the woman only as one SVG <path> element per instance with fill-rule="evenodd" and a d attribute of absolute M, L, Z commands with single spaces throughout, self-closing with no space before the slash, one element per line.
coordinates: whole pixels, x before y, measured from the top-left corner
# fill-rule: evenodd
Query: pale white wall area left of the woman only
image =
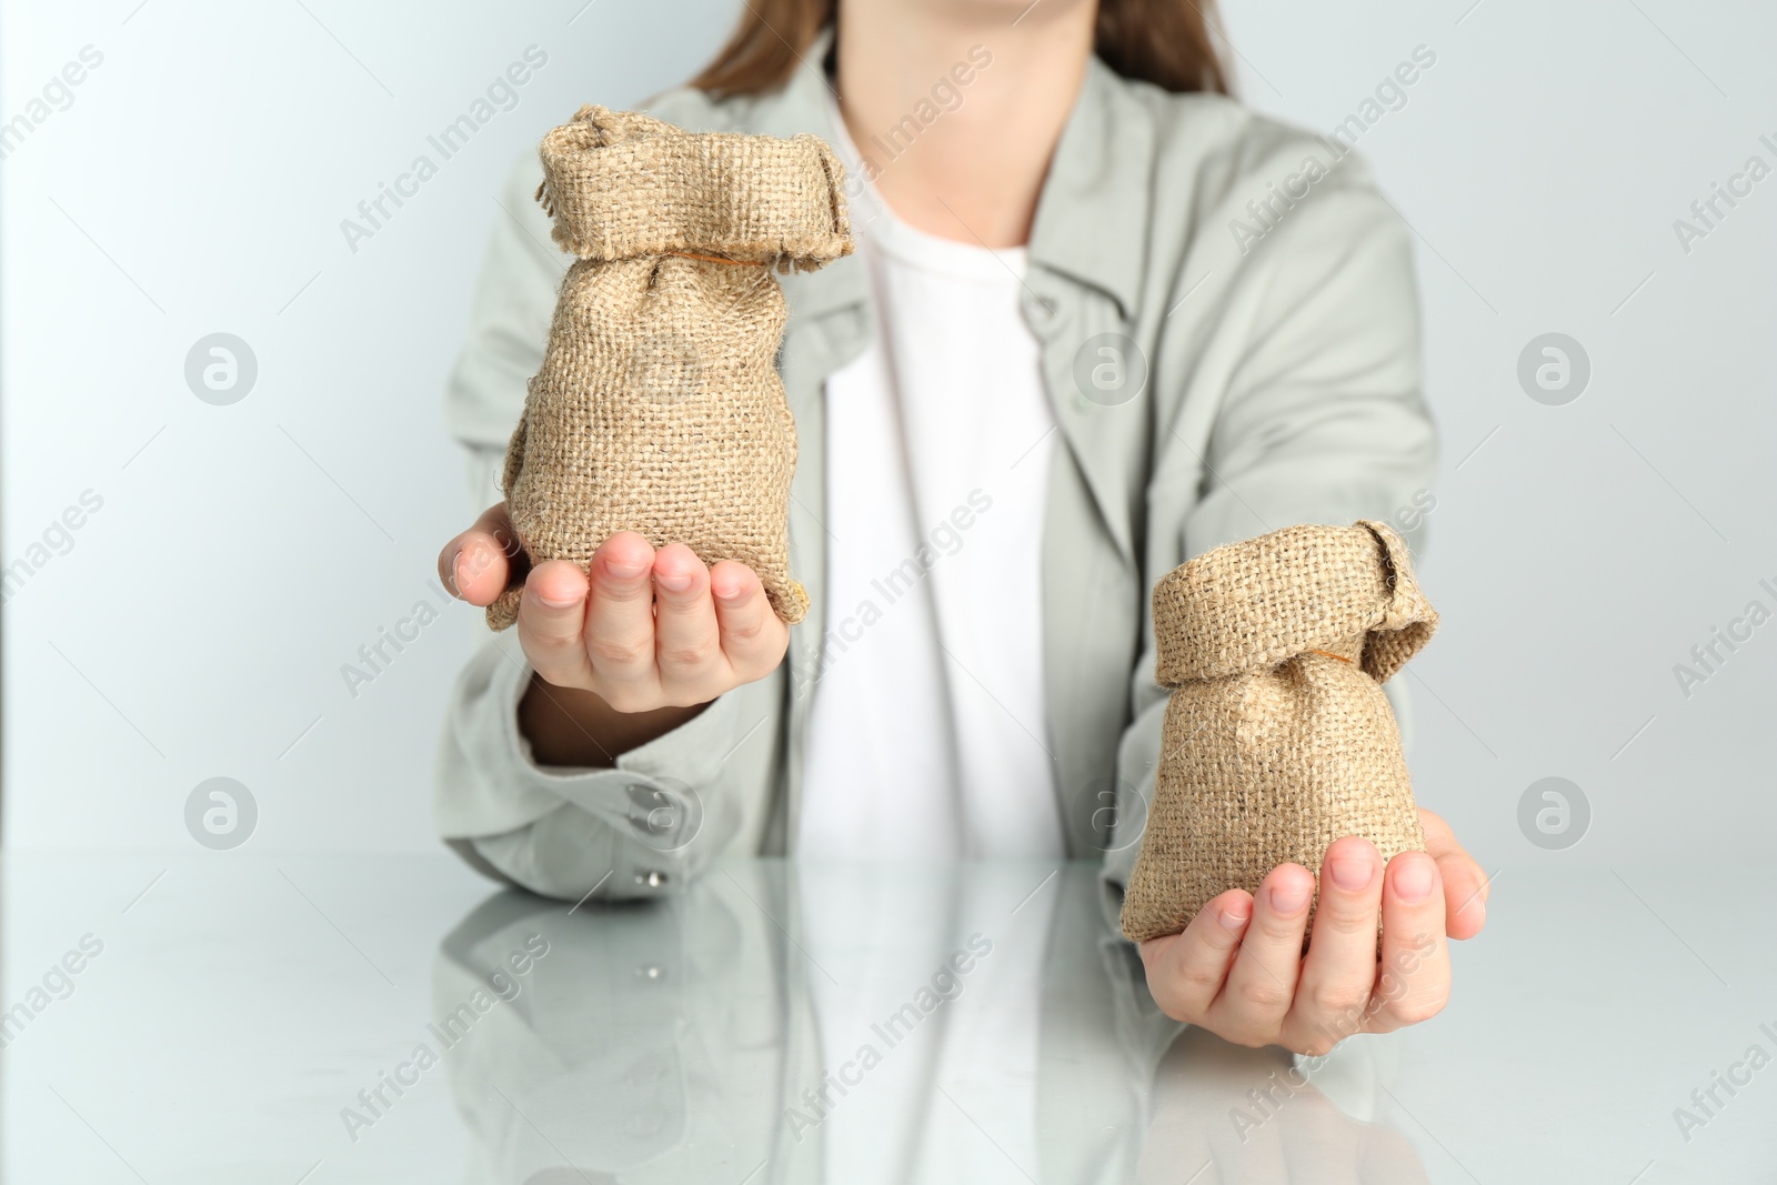
<path fill-rule="evenodd" d="M 0 34 L 5 117 L 105 53 L 0 165 L 5 560 L 105 497 L 4 609 L 5 840 L 192 847 L 187 794 L 231 776 L 254 846 L 435 851 L 434 743 L 485 627 L 457 606 L 355 698 L 339 668 L 439 599 L 469 522 L 442 387 L 498 185 L 581 103 L 688 76 L 734 5 L 135 4 L 9 4 Z M 519 105 L 354 254 L 339 222 L 531 44 Z M 185 384 L 219 330 L 259 364 L 231 407 Z"/>

